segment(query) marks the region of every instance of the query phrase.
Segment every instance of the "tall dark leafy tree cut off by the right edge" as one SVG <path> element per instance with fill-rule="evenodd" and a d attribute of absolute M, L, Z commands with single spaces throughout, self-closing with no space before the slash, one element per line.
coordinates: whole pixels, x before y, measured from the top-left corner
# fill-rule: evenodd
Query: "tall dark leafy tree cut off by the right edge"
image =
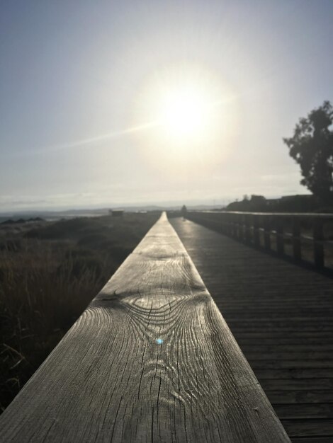
<path fill-rule="evenodd" d="M 300 118 L 293 137 L 283 139 L 289 154 L 300 165 L 300 180 L 319 200 L 333 200 L 333 107 L 324 101 L 306 118 Z"/>

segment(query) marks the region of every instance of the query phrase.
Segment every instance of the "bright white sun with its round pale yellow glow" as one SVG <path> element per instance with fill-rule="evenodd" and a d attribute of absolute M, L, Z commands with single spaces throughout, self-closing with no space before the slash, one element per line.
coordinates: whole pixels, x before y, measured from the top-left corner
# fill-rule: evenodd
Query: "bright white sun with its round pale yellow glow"
<path fill-rule="evenodd" d="M 133 125 L 152 125 L 133 136 L 155 168 L 210 168 L 230 149 L 236 103 L 235 92 L 212 71 L 186 64 L 158 69 L 133 107 Z"/>

